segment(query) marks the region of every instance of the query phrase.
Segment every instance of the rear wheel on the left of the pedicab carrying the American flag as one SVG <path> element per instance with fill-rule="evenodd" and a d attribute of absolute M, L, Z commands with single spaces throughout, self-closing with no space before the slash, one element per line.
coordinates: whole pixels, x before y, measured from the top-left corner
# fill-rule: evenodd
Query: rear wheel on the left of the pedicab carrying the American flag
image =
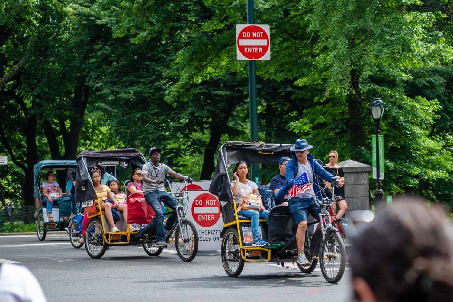
<path fill-rule="evenodd" d="M 244 268 L 244 259 L 241 257 L 239 236 L 236 229 L 229 229 L 222 240 L 222 264 L 230 277 L 237 277 Z"/>

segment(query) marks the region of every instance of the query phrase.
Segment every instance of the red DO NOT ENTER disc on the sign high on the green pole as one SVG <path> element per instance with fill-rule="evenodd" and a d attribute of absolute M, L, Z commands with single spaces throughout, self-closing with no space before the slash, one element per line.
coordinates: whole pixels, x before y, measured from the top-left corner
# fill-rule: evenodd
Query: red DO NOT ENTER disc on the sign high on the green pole
<path fill-rule="evenodd" d="M 246 26 L 237 36 L 236 45 L 244 57 L 257 60 L 269 50 L 269 36 L 259 26 Z"/>

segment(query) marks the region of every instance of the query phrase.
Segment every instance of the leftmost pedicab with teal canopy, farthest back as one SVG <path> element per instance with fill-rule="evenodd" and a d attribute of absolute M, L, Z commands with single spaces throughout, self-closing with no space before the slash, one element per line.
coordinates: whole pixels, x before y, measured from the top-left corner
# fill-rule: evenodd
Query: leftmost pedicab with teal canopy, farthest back
<path fill-rule="evenodd" d="M 74 172 L 76 166 L 75 160 L 43 160 L 33 167 L 33 196 L 36 206 L 34 217 L 36 217 L 36 234 L 40 241 L 46 239 L 47 231 L 61 231 L 69 225 L 69 221 L 63 218 L 71 216 L 71 200 L 64 190 L 67 181 L 72 179 L 71 173 Z M 58 200 L 55 199 L 58 201 L 58 205 L 55 202 L 52 206 L 54 221 L 49 220 L 48 209 L 43 205 L 41 183 L 46 181 L 45 174 L 43 174 L 46 171 L 54 171 L 57 173 L 58 179 L 64 181 L 64 183 L 58 183 L 63 195 Z"/>

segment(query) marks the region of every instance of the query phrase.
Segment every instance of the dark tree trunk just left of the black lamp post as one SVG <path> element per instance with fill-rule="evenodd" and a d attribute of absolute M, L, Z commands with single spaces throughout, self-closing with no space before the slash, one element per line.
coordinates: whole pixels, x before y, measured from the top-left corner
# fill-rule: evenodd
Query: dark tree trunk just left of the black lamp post
<path fill-rule="evenodd" d="M 347 95 L 349 109 L 349 135 L 351 139 L 351 157 L 362 160 L 361 149 L 366 148 L 365 128 L 363 127 L 363 106 L 357 72 L 351 71 L 351 85 L 354 91 Z"/>

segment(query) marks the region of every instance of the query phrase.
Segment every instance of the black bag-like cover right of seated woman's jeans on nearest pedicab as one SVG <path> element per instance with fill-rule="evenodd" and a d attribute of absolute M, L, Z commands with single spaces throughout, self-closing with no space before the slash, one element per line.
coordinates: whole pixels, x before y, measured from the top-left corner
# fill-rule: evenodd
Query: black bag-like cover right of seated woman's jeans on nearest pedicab
<path fill-rule="evenodd" d="M 287 206 L 276 206 L 269 213 L 268 241 L 284 242 L 291 238 L 297 230 L 293 214 Z"/>

